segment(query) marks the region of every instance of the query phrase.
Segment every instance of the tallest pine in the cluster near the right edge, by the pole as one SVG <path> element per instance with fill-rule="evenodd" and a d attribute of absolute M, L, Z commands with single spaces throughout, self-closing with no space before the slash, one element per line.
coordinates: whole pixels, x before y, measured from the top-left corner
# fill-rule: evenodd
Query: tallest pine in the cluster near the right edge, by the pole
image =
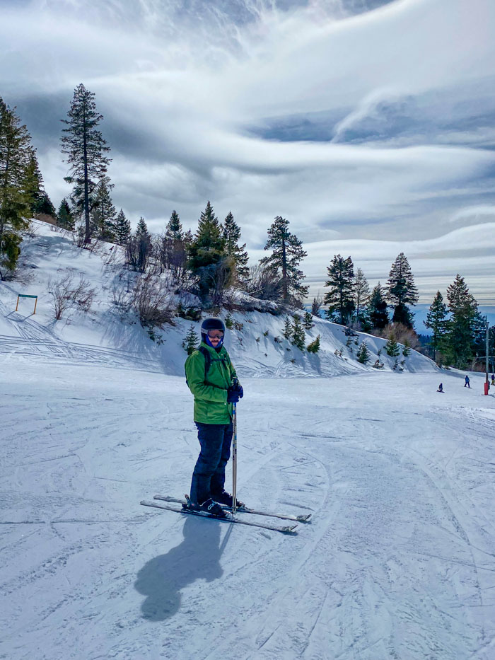
<path fill-rule="evenodd" d="M 458 369 L 464 369 L 472 359 L 472 344 L 477 321 L 477 301 L 470 294 L 464 278 L 457 274 L 453 284 L 447 287 L 448 311 L 445 354 Z"/>

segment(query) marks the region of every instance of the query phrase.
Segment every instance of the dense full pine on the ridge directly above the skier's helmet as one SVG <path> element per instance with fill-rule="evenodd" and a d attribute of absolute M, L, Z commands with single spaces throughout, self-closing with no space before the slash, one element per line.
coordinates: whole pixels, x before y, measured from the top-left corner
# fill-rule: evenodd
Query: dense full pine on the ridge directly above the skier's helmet
<path fill-rule="evenodd" d="M 213 295 L 213 303 L 221 303 L 223 291 L 230 286 L 233 277 L 233 260 L 225 253 L 219 219 L 210 202 L 202 212 L 196 235 L 187 246 L 187 266 L 196 277 L 199 295 L 207 299 Z"/>

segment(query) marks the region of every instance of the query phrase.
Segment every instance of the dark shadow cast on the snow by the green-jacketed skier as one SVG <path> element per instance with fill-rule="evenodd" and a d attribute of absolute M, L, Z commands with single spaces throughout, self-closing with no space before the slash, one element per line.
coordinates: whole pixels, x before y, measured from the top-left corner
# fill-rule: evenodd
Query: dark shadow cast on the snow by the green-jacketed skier
<path fill-rule="evenodd" d="M 134 587 L 146 596 L 141 605 L 143 618 L 163 621 L 172 617 L 180 608 L 180 591 L 187 584 L 199 579 L 211 582 L 222 576 L 220 557 L 225 541 L 220 547 L 221 524 L 191 516 L 184 523 L 182 543 L 141 568 Z"/>

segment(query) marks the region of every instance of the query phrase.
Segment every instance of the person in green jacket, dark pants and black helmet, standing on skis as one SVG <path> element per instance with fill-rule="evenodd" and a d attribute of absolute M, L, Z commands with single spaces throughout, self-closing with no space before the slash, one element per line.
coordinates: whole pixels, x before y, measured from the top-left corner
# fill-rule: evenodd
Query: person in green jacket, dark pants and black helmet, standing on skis
<path fill-rule="evenodd" d="M 201 345 L 186 360 L 187 386 L 194 395 L 194 423 L 201 451 L 192 473 L 192 508 L 224 518 L 220 506 L 232 506 L 224 490 L 225 468 L 231 456 L 233 404 L 244 392 L 223 346 L 225 325 L 220 318 L 205 318 Z M 236 506 L 244 506 L 237 502 Z"/>

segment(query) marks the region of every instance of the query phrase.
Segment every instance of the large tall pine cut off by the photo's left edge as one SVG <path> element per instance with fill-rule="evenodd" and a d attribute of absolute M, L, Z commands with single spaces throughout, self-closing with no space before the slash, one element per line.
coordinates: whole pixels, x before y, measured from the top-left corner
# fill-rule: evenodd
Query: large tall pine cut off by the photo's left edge
<path fill-rule="evenodd" d="M 26 168 L 33 153 L 25 125 L 0 98 L 0 279 L 13 271 L 21 254 L 22 231 L 28 226 L 32 199 Z"/>

